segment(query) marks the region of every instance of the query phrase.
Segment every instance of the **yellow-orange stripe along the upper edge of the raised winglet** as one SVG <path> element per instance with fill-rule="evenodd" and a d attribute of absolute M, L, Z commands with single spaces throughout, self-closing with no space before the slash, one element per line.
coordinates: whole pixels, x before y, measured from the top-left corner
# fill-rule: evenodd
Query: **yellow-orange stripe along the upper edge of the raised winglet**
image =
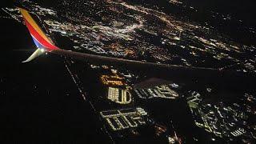
<path fill-rule="evenodd" d="M 37 25 L 36 22 L 34 22 L 34 19 L 31 17 L 31 15 L 29 14 L 29 12 L 25 9 L 22 8 L 18 8 L 20 10 L 20 12 L 22 13 L 23 18 L 26 19 L 27 22 L 30 23 L 31 26 L 34 27 L 34 30 L 36 30 L 38 32 L 38 34 L 40 34 L 42 36 L 42 38 L 44 38 L 47 42 L 52 43 L 49 38 L 46 37 L 46 34 L 44 34 L 44 32 L 42 32 L 42 30 L 40 29 L 40 27 Z"/>

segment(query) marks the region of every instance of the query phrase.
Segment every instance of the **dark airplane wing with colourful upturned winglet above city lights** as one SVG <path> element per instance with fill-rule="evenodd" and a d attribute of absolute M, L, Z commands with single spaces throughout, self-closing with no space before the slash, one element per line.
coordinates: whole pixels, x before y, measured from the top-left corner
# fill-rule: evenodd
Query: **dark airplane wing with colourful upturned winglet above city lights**
<path fill-rule="evenodd" d="M 177 65 L 169 65 L 169 64 L 159 64 L 154 62 L 142 62 L 142 61 L 136 61 L 136 60 L 130 60 L 130 59 L 124 59 L 124 58 L 111 58 L 96 54 L 85 54 L 70 50 L 62 50 L 58 48 L 58 46 L 55 46 L 54 43 L 50 38 L 46 36 L 46 34 L 40 29 L 38 24 L 34 21 L 34 19 L 31 17 L 29 12 L 25 9 L 18 8 L 22 14 L 22 17 L 24 18 L 24 22 L 26 24 L 26 27 L 30 31 L 30 34 L 33 38 L 34 44 L 38 47 L 38 50 L 34 52 L 24 62 L 30 62 L 34 58 L 37 58 L 39 55 L 43 54 L 44 52 L 50 52 L 53 54 L 58 55 L 64 55 L 66 57 L 74 58 L 74 59 L 80 59 L 86 62 L 90 63 L 97 63 L 97 64 L 106 64 L 106 65 L 112 65 L 112 66 L 132 66 L 137 67 L 138 69 L 146 68 L 148 70 L 154 69 L 154 70 L 170 70 L 175 71 L 176 73 L 179 73 L 181 75 L 186 75 L 183 71 L 190 71 L 190 74 L 206 74 L 207 77 L 210 77 L 211 75 L 222 75 L 224 72 L 223 70 L 218 70 L 214 68 L 205 68 L 205 67 L 194 67 L 194 66 L 177 66 Z M 226 73 L 227 71 L 225 71 Z M 229 71 L 228 73 L 233 73 L 233 75 L 238 75 L 234 71 Z M 222 75 L 223 76 L 223 75 Z"/>

